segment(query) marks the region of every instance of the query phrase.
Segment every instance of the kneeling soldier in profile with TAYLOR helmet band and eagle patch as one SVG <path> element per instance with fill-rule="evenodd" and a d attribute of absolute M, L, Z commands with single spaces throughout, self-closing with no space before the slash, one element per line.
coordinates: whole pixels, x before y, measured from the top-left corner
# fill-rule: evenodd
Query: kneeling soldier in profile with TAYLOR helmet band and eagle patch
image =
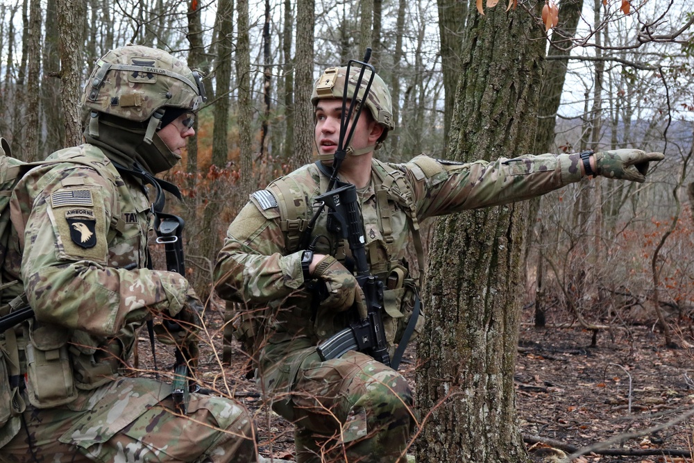
<path fill-rule="evenodd" d="M 146 186 L 167 186 L 153 175 L 180 160 L 201 92 L 200 76 L 169 53 L 110 51 L 83 94 L 87 143 L 53 153 L 15 188 L 2 272 L 17 284 L 3 302 L 26 292 L 35 319 L 0 343 L 25 378 L 0 428 L 0 461 L 257 461 L 239 403 L 190 394 L 186 416 L 171 385 L 123 376 L 147 319 L 196 321 L 201 309 L 183 276 L 148 268 Z M 191 334 L 176 338 L 191 344 Z"/>

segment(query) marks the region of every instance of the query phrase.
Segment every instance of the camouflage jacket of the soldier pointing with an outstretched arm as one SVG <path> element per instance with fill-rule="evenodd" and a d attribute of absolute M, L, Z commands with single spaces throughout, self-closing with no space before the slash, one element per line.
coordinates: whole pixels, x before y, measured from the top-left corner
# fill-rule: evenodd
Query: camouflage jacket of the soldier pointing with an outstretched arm
<path fill-rule="evenodd" d="M 384 292 L 384 326 L 389 343 L 400 339 L 414 305 L 418 283 L 409 277 L 409 230 L 427 217 L 520 201 L 556 190 L 582 178 L 578 154 L 525 155 L 496 162 L 468 164 L 439 161 L 425 155 L 405 164 L 372 161 L 371 183 L 359 191 L 364 237 L 371 272 L 395 276 Z M 228 228 L 214 269 L 222 298 L 246 304 L 254 319 L 264 316 L 271 342 L 308 337 L 327 339 L 345 328 L 344 314 L 315 312 L 312 292 L 301 269 L 302 249 L 295 249 L 296 230 L 313 215 L 314 198 L 325 192 L 328 178 L 306 165 L 256 192 Z M 291 212 L 297 211 L 297 212 Z M 291 217 L 297 216 L 297 217 Z M 409 224 L 408 224 L 409 221 Z M 326 214 L 312 236 L 316 253 L 344 260 L 349 250 L 326 230 Z M 251 312 L 251 310 L 253 310 Z M 246 315 L 246 319 L 250 318 Z M 242 323 L 239 337 L 255 335 Z M 416 331 L 423 324 L 417 323 Z"/>

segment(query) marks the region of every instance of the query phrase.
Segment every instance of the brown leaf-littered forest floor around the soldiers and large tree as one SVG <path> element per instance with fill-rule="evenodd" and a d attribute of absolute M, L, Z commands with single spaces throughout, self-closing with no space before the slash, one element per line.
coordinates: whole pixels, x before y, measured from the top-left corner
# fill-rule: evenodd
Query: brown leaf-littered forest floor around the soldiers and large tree
<path fill-rule="evenodd" d="M 232 344 L 232 362 L 220 374 L 222 316 L 221 305 L 206 315 L 210 346 L 201 349 L 198 375 L 205 387 L 231 392 L 255 414 L 260 453 L 266 458 L 294 459 L 294 436 L 290 423 L 269 412 L 253 380 L 244 375 L 245 357 L 237 342 Z M 524 314 L 516 364 L 516 403 L 523 437 L 533 453 L 543 444 L 582 448 L 627 432 L 639 432 L 666 423 L 694 408 L 694 341 L 689 332 L 679 336 L 680 348 L 663 346 L 663 337 L 651 326 L 623 325 L 610 332 L 600 331 L 591 347 L 592 332 L 576 326 L 532 326 L 532 310 Z M 556 317 L 555 317 L 556 318 Z M 567 317 L 568 318 L 568 317 Z M 691 328 L 690 328 L 691 329 Z M 149 364 L 149 340 L 140 338 L 140 353 Z M 160 344 L 159 344 L 160 345 Z M 158 348 L 160 351 L 161 348 Z M 407 348 L 400 371 L 414 383 L 416 346 Z M 170 357 L 169 357 L 170 358 Z M 165 365 L 167 355 L 160 365 Z M 161 368 L 161 367 L 160 367 Z M 628 374 L 627 374 L 628 373 Z M 688 376 L 686 376 L 688 374 Z M 629 375 L 632 400 L 629 411 Z M 692 378 L 692 380 L 688 380 Z M 226 385 L 224 382 L 226 381 Z M 659 432 L 627 439 L 610 448 L 658 451 L 694 448 L 694 418 Z M 570 448 L 565 448 L 570 453 Z M 588 453 L 576 462 L 691 462 L 689 458 L 663 455 L 600 455 Z"/>

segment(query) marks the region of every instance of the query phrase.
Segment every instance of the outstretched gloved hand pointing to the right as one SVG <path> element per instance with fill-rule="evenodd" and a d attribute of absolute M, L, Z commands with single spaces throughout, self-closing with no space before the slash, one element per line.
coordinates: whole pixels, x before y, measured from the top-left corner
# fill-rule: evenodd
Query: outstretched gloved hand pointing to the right
<path fill-rule="evenodd" d="M 595 174 L 643 183 L 649 162 L 665 159 L 663 153 L 646 153 L 640 149 L 615 149 L 595 153 Z"/>

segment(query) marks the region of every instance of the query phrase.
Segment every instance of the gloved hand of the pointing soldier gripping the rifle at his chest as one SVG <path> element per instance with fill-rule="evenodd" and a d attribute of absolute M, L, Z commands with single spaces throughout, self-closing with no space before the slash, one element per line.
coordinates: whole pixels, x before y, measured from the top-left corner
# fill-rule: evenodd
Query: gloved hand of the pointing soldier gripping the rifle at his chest
<path fill-rule="evenodd" d="M 355 297 L 358 297 L 359 303 L 364 304 L 364 292 L 357 279 L 332 255 L 326 255 L 316 265 L 313 276 L 325 283 L 328 296 L 321 301 L 322 308 L 342 312 L 352 307 Z"/>

